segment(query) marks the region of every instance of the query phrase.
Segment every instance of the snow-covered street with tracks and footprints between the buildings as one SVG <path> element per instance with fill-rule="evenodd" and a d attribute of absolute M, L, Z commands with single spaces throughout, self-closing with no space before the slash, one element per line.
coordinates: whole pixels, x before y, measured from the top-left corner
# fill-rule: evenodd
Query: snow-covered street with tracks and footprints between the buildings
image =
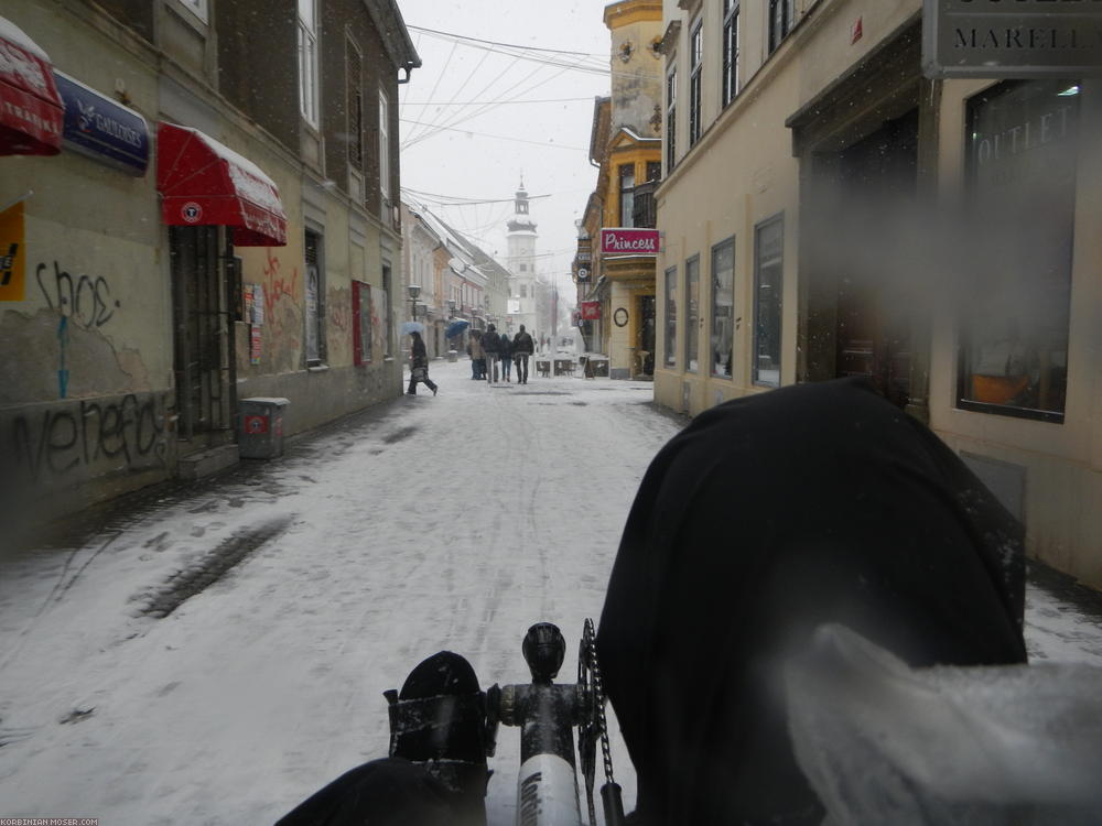
<path fill-rule="evenodd" d="M 681 423 L 646 382 L 533 363 L 527 385 L 489 387 L 465 358 L 430 373 L 435 398 L 0 557 L 0 816 L 270 824 L 386 754 L 382 692 L 440 649 L 483 687 L 527 682 L 520 640 L 548 620 L 573 680 L 635 490 Z M 1027 612 L 1031 656 L 1102 665 L 1096 617 L 1037 587 Z M 503 728 L 495 826 L 518 757 Z"/>

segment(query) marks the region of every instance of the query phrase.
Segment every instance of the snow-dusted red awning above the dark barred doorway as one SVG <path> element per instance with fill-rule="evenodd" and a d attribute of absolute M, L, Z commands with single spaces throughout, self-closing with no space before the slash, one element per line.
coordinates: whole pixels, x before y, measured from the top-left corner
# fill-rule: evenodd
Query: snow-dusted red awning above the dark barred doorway
<path fill-rule="evenodd" d="M 287 215 L 272 180 L 197 129 L 158 123 L 156 188 L 165 224 L 233 227 L 237 247 L 287 244 Z"/>

